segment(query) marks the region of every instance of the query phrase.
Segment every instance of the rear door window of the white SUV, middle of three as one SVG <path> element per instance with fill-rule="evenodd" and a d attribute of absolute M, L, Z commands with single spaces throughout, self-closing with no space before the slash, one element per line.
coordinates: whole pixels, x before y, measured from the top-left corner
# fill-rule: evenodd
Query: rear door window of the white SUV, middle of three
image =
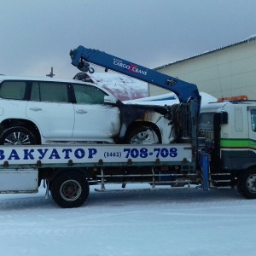
<path fill-rule="evenodd" d="M 35 102 L 68 102 L 67 84 L 33 82 L 31 100 Z"/>

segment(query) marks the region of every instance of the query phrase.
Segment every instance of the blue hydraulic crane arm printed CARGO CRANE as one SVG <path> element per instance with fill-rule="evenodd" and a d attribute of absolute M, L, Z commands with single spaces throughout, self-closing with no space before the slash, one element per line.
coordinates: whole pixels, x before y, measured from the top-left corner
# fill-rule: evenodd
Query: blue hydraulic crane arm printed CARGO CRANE
<path fill-rule="evenodd" d="M 153 69 L 139 66 L 131 61 L 125 61 L 119 57 L 108 55 L 100 50 L 87 49 L 81 45 L 77 49 L 71 50 L 70 56 L 73 66 L 78 67 L 81 71 L 93 73 L 93 69 L 88 63 L 91 62 L 105 67 L 106 71 L 111 69 L 166 90 L 171 90 L 177 95 L 180 102 L 190 102 L 193 100 L 198 104 L 198 110 L 200 109 L 201 96 L 195 84 L 189 84 Z"/>

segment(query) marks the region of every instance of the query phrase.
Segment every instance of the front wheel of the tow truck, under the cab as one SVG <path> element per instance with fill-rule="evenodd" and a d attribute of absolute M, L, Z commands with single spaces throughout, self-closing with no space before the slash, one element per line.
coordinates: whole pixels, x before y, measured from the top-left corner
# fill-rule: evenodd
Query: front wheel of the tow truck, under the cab
<path fill-rule="evenodd" d="M 256 199 L 256 170 L 249 169 L 238 178 L 237 191 L 247 199 Z"/>

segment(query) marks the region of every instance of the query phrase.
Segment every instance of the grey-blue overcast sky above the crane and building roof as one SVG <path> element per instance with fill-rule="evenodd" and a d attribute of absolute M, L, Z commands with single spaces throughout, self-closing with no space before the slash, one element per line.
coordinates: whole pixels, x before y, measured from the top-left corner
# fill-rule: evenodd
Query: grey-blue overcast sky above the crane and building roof
<path fill-rule="evenodd" d="M 255 35 L 255 11 L 255 0 L 0 0 L 0 73 L 72 79 L 80 44 L 159 67 Z"/>

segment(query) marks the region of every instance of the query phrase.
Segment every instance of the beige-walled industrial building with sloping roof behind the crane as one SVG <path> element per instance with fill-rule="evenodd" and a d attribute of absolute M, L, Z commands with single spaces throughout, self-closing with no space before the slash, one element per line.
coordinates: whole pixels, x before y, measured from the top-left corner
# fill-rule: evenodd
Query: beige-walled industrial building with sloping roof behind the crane
<path fill-rule="evenodd" d="M 196 84 L 217 98 L 242 95 L 256 99 L 256 35 L 155 70 Z M 149 84 L 149 96 L 168 92 Z"/>

